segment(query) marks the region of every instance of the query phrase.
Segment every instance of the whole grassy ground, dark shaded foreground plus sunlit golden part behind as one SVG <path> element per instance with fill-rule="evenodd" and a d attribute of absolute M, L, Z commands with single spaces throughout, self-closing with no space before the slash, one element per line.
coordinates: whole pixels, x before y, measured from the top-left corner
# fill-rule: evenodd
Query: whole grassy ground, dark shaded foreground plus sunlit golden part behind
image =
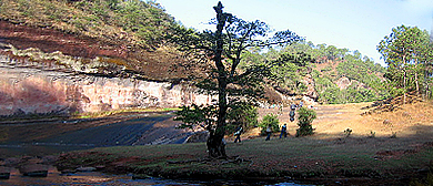
<path fill-rule="evenodd" d="M 288 138 L 275 134 L 265 142 L 256 131 L 244 134 L 241 144 L 228 137 L 229 159 L 208 159 L 205 144 L 197 143 L 95 148 L 64 154 L 58 163 L 60 169 L 102 165 L 107 172 L 168 178 L 298 179 L 326 185 L 407 185 L 424 177 L 433 161 L 432 103 L 361 116 L 366 105 L 319 106 L 315 134 L 308 137 L 293 137 L 295 122 L 285 122 L 284 110 L 280 121 L 289 124 Z M 273 110 L 260 111 L 266 112 Z M 352 130 L 349 136 L 346 128 Z"/>

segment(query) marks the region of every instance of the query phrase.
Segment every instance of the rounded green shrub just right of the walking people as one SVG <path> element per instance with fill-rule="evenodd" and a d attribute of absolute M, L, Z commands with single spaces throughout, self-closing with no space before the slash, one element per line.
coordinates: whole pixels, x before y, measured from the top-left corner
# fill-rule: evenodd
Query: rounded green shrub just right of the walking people
<path fill-rule="evenodd" d="M 310 110 L 306 107 L 301 107 L 298 111 L 299 117 L 298 117 L 298 126 L 296 130 L 296 137 L 299 136 L 305 136 L 305 135 L 312 135 L 313 134 L 313 127 L 311 126 L 311 123 L 313 123 L 313 120 L 316 117 L 315 111 Z"/>

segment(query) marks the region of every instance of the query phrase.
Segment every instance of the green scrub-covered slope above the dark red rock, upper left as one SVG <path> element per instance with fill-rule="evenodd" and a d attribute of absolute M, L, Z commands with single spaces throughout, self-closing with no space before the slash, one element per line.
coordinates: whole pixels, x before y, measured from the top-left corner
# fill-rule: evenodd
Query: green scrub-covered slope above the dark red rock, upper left
<path fill-rule="evenodd" d="M 154 48 L 161 42 L 154 39 L 175 24 L 158 3 L 140 0 L 2 0 L 0 14 L 16 24 L 144 49 Z"/>

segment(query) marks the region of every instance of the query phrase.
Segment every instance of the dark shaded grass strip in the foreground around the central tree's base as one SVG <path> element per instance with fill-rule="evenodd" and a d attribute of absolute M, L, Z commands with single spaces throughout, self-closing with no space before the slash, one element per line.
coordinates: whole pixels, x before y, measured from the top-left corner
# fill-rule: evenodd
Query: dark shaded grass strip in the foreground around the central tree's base
<path fill-rule="evenodd" d="M 99 166 L 112 173 L 168 178 L 302 179 L 409 183 L 427 170 L 432 143 L 409 138 L 284 138 L 259 137 L 229 143 L 236 158 L 207 159 L 205 144 L 95 148 L 63 155 L 62 167 Z"/>

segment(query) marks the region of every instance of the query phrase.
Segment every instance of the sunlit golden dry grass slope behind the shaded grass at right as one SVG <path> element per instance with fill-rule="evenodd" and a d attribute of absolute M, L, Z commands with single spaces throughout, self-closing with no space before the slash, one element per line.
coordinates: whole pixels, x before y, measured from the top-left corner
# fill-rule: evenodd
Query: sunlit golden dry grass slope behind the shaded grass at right
<path fill-rule="evenodd" d="M 390 99 L 376 103 L 353 103 L 315 106 L 318 118 L 313 122 L 315 137 L 343 137 L 344 131 L 351 128 L 351 136 L 367 137 L 375 133 L 376 137 L 419 136 L 429 137 L 433 134 L 433 103 L 423 102 L 414 95 Z M 392 110 L 391 110 L 392 108 Z M 260 110 L 260 116 L 278 114 L 278 108 Z M 279 115 L 281 124 L 286 123 L 290 134 L 298 128 L 296 121 L 289 121 L 289 107 Z M 425 134 L 425 135 L 423 135 Z"/>

